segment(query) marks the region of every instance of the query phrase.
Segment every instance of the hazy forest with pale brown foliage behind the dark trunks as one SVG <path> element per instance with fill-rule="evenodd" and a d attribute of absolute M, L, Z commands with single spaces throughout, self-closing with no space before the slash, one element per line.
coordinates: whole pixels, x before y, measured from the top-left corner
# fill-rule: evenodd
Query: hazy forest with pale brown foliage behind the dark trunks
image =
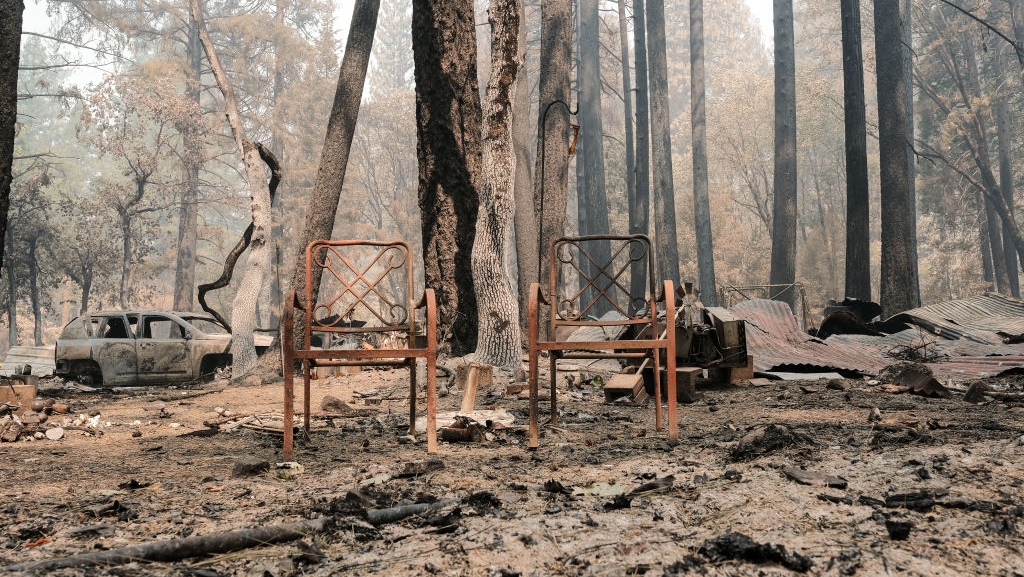
<path fill-rule="evenodd" d="M 273 266 L 259 299 L 261 327 L 276 324 L 299 250 L 294 245 L 343 52 L 337 18 L 350 11 L 347 4 L 206 3 L 248 130 L 278 154 L 284 169 L 273 210 Z M 1000 242 L 993 241 L 998 219 L 986 211 L 979 184 L 983 162 L 1007 186 L 1019 178 L 1021 77 L 1014 72 L 1019 67 L 1012 47 L 993 32 L 1013 30 L 1016 4 L 975 1 L 971 12 L 991 25 L 986 27 L 943 1 L 911 2 L 923 303 L 985 290 L 1017 291 L 1016 270 L 1012 279 L 998 275 L 997 264 L 1006 261 L 997 254 Z M 45 6 L 50 28 L 23 35 L 0 290 L 8 345 L 52 343 L 81 311 L 196 307 L 194 290 L 186 294 L 181 287 L 217 278 L 251 217 L 220 94 L 188 33 L 186 2 L 71 0 L 38 6 Z M 481 90 L 489 69 L 486 7 L 477 3 Z M 632 34 L 632 3 L 624 3 L 622 12 L 615 2 L 600 7 L 604 181 L 610 232 L 626 234 L 620 30 L 625 26 Z M 797 280 L 812 315 L 828 299 L 844 296 L 846 163 L 837 7 L 794 2 Z M 530 132 L 537 134 L 539 3 L 527 1 L 525 8 Z M 870 3 L 861 11 L 877 295 L 881 243 Z M 680 279 L 695 281 L 687 3 L 669 0 L 665 12 Z M 411 17 L 408 2 L 382 0 L 335 238 L 400 238 L 420 251 Z M 765 30 L 742 0 L 706 1 L 709 194 L 719 286 L 762 285 L 769 276 L 773 63 Z M 574 105 L 574 87 L 572 94 Z M 977 126 L 988 143 L 981 159 L 966 136 Z M 1000 138 L 1000 130 L 1009 138 Z M 569 179 L 575 191 L 571 166 Z M 569 214 L 575 214 L 573 199 L 570 194 Z M 571 233 L 574 218 L 568 223 Z M 234 288 L 211 293 L 210 303 L 229 315 Z"/>

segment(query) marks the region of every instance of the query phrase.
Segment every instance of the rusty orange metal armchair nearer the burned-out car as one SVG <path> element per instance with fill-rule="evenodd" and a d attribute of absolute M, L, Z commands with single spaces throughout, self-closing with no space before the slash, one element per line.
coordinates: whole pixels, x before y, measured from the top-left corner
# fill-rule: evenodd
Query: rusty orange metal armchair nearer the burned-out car
<path fill-rule="evenodd" d="M 321 295 L 310 287 L 313 271 L 321 269 Z M 282 314 L 282 361 L 285 375 L 285 460 L 292 460 L 294 436 L 294 366 L 302 362 L 303 428 L 309 431 L 309 381 L 315 367 L 404 366 L 410 372 L 409 434 L 416 435 L 416 363 L 427 364 L 427 451 L 437 450 L 436 368 L 437 312 L 434 292 L 412 300 L 413 251 L 401 241 L 318 240 L 306 247 L 306 289 L 302 298 L 289 291 Z M 401 291 L 404 295 L 396 295 Z M 416 314 L 425 308 L 425 335 L 417 332 Z M 295 342 L 295 311 L 300 316 L 302 344 Z M 358 319 L 358 322 L 353 322 Z M 359 326 L 356 326 L 359 325 Z M 313 333 L 326 337 L 323 347 L 314 347 Z M 335 337 L 367 337 L 401 333 L 408 348 L 332 348 Z M 425 339 L 423 338 L 425 337 Z M 393 339 L 392 339 L 393 340 Z M 421 344 L 421 340 L 423 341 Z"/>

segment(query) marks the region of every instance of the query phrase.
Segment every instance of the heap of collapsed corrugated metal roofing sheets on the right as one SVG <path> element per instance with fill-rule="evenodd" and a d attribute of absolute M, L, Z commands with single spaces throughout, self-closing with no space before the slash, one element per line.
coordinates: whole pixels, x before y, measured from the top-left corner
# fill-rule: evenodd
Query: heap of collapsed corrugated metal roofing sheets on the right
<path fill-rule="evenodd" d="M 835 335 L 821 341 L 797 327 L 788 305 L 749 300 L 729 311 L 746 321 L 746 347 L 756 371 L 823 368 L 878 374 L 907 347 L 943 360 L 928 363 L 940 379 L 964 380 L 1024 372 L 1024 344 L 1004 344 L 995 331 L 1024 332 L 1024 304 L 998 295 L 924 306 L 898 317 L 924 326 L 886 336 Z M 937 334 L 948 335 L 940 338 Z M 959 335 L 953 338 L 954 335 Z"/>

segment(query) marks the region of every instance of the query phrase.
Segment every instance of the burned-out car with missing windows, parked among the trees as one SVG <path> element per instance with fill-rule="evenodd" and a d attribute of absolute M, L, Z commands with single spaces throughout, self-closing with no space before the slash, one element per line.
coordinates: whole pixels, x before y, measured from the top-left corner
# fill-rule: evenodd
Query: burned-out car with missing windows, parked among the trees
<path fill-rule="evenodd" d="M 227 329 L 206 314 L 89 313 L 57 338 L 54 372 L 104 386 L 188 382 L 230 365 L 230 343 Z"/>

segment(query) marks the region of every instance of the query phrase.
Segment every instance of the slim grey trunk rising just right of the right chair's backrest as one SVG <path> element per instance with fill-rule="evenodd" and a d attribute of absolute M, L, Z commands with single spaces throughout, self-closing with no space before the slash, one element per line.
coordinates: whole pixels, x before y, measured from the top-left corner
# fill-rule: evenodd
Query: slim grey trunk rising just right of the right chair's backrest
<path fill-rule="evenodd" d="M 654 173 L 654 237 L 658 278 L 679 285 L 679 235 L 672 178 L 672 115 L 669 112 L 669 63 L 665 38 L 665 0 L 647 2 L 650 49 L 651 158 Z M 714 290 L 714 289 L 713 289 Z"/>

